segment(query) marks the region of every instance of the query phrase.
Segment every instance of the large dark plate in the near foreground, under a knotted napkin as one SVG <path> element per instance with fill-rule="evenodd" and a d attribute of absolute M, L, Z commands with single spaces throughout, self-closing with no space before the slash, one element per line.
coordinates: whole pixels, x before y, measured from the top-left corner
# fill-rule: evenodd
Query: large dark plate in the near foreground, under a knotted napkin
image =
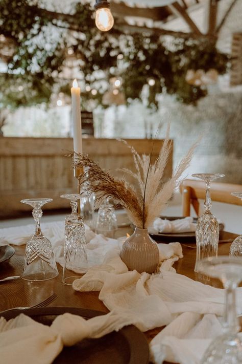
<path fill-rule="evenodd" d="M 65 312 L 86 319 L 103 315 L 103 312 L 73 307 L 43 307 L 23 310 L 13 309 L 3 314 L 6 319 L 20 313 L 44 325 Z M 148 364 L 149 346 L 146 337 L 135 326 L 126 326 L 98 339 L 84 339 L 71 347 L 64 347 L 54 364 Z"/>

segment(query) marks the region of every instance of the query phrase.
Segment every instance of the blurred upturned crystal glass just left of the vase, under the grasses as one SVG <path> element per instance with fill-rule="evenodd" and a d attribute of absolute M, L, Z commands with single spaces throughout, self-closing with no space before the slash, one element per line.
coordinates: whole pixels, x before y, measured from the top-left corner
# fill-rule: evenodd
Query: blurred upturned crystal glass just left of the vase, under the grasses
<path fill-rule="evenodd" d="M 96 221 L 96 233 L 105 237 L 114 238 L 117 229 L 117 219 L 113 206 L 106 199 L 99 208 L 98 220 Z"/>

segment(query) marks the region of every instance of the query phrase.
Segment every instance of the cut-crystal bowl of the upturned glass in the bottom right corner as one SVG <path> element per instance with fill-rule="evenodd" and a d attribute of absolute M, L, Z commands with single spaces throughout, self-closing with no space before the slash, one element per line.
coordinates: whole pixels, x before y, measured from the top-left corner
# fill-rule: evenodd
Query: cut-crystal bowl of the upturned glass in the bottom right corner
<path fill-rule="evenodd" d="M 206 350 L 201 364 L 241 364 L 241 336 L 224 334 L 217 337 Z"/>

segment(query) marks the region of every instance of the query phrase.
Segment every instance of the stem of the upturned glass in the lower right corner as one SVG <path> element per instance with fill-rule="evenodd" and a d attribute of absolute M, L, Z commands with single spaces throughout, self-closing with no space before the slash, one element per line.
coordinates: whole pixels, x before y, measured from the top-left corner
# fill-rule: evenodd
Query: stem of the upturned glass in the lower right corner
<path fill-rule="evenodd" d="M 224 324 L 223 331 L 226 334 L 236 334 L 239 329 L 239 322 L 236 313 L 236 300 L 235 300 L 235 282 L 226 281 L 224 283 L 225 291 L 225 311 L 224 311 Z"/>

